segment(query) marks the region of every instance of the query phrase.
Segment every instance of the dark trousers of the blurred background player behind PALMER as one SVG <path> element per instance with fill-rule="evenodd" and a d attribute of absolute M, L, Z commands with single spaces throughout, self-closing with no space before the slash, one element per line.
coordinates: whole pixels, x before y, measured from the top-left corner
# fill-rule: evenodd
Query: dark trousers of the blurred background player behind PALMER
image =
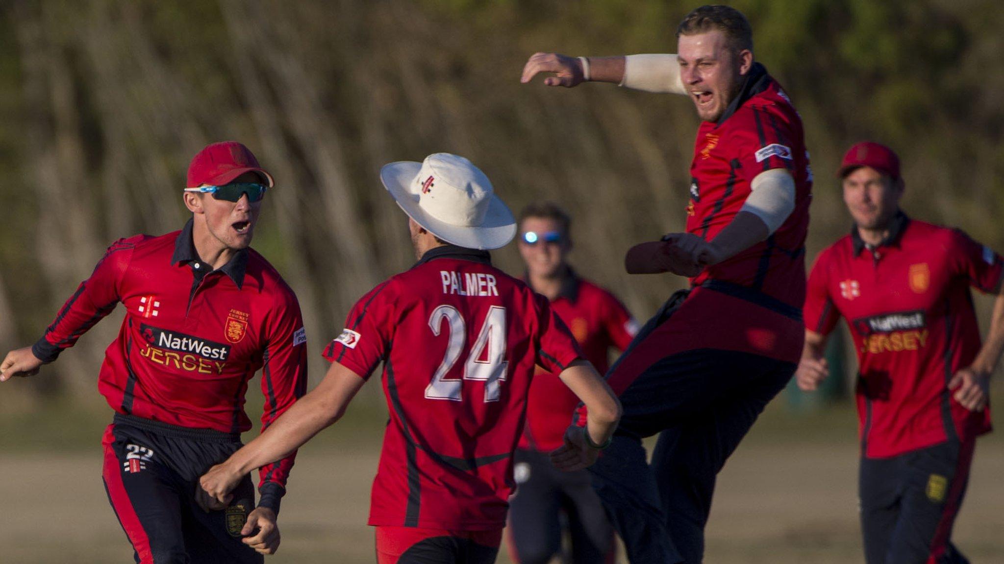
<path fill-rule="evenodd" d="M 613 527 L 589 473 L 561 472 L 546 453 L 516 451 L 516 495 L 509 500 L 511 543 L 520 564 L 546 564 L 561 550 L 562 515 L 571 537 L 571 562 L 612 562 Z"/>

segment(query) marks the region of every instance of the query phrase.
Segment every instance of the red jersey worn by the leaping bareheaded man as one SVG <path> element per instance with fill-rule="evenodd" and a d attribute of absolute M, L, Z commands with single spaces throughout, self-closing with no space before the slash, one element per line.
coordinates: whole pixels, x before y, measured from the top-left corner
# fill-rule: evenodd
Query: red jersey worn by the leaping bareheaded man
<path fill-rule="evenodd" d="M 738 298 L 728 307 L 729 318 L 749 320 L 756 326 L 733 342 L 713 324 L 704 324 L 695 328 L 697 334 L 691 340 L 696 347 L 744 350 L 797 362 L 802 343 L 782 337 L 801 323 L 812 173 L 798 112 L 763 65 L 755 63 L 722 117 L 704 121 L 698 129 L 687 232 L 714 239 L 746 203 L 753 179 L 771 169 L 791 173 L 794 211 L 765 241 L 691 280 L 693 286 L 714 293 L 696 292 L 688 298 L 713 300 L 722 293 Z M 762 308 L 782 315 L 765 317 Z M 777 346 L 780 340 L 784 342 Z"/>

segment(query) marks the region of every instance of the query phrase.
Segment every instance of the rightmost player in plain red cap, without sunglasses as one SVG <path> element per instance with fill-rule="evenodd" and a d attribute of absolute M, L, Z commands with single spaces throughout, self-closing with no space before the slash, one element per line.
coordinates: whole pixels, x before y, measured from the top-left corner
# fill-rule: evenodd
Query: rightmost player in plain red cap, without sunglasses
<path fill-rule="evenodd" d="M 854 228 L 809 275 L 798 385 L 815 389 L 828 374 L 826 336 L 842 316 L 859 365 L 865 560 L 966 563 L 950 539 L 976 438 L 990 431 L 1004 263 L 962 231 L 908 218 L 900 160 L 888 147 L 851 147 L 839 176 Z M 971 286 L 997 295 L 982 345 Z"/>

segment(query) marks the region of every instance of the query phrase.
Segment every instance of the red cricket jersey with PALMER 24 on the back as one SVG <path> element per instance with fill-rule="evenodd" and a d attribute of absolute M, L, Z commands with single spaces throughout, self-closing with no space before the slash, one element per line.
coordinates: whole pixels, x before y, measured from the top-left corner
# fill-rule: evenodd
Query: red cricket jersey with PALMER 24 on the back
<path fill-rule="evenodd" d="M 505 525 L 512 452 L 535 364 L 581 357 L 543 296 L 454 246 L 363 296 L 324 350 L 366 378 L 384 361 L 391 422 L 369 525 L 489 530 Z"/>

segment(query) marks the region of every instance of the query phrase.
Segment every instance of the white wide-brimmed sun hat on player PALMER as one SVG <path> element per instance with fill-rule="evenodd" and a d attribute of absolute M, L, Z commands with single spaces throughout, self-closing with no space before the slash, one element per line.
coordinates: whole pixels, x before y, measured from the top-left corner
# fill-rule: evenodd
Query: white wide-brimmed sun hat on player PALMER
<path fill-rule="evenodd" d="M 463 157 L 437 153 L 422 163 L 391 163 L 380 180 L 410 218 L 447 243 L 498 249 L 516 235 L 516 220 L 491 181 Z"/>

